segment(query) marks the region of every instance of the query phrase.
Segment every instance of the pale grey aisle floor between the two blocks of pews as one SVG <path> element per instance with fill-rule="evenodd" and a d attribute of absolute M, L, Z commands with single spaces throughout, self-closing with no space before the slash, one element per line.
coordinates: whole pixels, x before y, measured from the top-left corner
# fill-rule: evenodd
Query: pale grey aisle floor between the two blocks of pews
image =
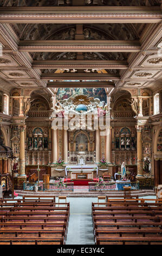
<path fill-rule="evenodd" d="M 70 203 L 70 218 L 66 245 L 94 245 L 91 207 L 97 198 L 71 197 L 67 202 Z"/>

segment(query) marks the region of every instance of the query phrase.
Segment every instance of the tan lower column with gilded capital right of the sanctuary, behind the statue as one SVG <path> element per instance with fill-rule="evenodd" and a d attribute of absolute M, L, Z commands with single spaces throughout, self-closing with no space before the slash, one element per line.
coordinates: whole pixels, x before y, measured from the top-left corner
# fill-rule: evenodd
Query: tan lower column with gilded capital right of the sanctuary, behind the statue
<path fill-rule="evenodd" d="M 137 176 L 143 176 L 142 126 L 137 126 Z"/>

